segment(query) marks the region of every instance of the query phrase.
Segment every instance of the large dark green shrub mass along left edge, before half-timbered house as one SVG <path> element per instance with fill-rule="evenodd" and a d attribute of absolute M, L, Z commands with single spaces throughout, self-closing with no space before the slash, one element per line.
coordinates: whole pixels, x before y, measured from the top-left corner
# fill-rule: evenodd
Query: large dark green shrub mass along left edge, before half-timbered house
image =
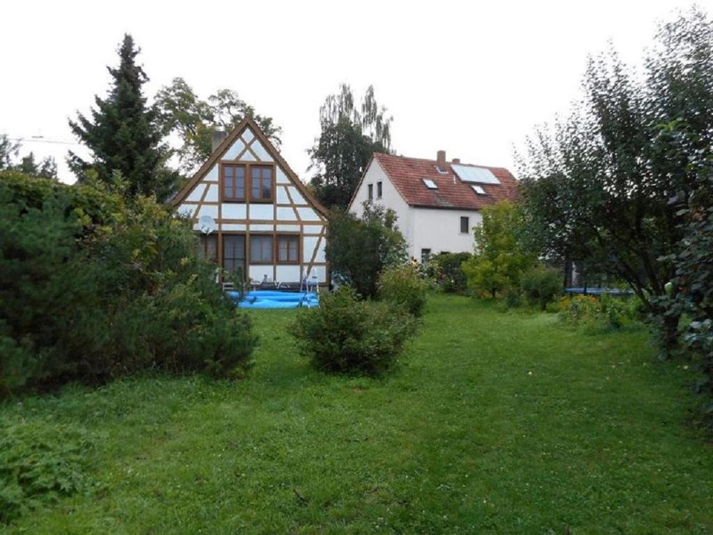
<path fill-rule="evenodd" d="M 1 178 L 6 178 L 2 174 Z M 153 198 L 0 180 L 0 394 L 146 368 L 240 372 L 255 337 Z"/>

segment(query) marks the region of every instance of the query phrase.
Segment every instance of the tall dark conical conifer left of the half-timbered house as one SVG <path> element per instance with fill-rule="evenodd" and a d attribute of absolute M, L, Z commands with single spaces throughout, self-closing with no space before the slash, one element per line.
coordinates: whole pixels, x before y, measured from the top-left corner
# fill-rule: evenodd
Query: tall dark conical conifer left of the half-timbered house
<path fill-rule="evenodd" d="M 76 121 L 69 121 L 92 159 L 86 161 L 70 151 L 68 164 L 79 180 L 90 168 L 106 182 L 118 171 L 127 180 L 128 195 L 155 194 L 161 200 L 170 193 L 175 177 L 164 167 L 168 151 L 162 144 L 158 113 L 143 96 L 148 76 L 136 63 L 139 53 L 133 38 L 125 34 L 118 68 L 107 67 L 113 78 L 108 98 L 95 97 L 91 118 L 79 113 Z"/>

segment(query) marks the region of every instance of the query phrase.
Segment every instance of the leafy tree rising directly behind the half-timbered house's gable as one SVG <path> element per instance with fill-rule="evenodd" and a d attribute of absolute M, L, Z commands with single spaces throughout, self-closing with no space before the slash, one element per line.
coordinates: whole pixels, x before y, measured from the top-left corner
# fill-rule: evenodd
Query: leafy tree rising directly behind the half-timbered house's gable
<path fill-rule="evenodd" d="M 255 108 L 230 89 L 220 89 L 202 101 L 183 78 L 173 78 L 170 86 L 158 91 L 156 105 L 165 135 L 175 134 L 180 138 L 180 146 L 174 152 L 179 169 L 185 174 L 210 157 L 213 132 L 231 131 L 245 117 L 254 119 L 276 146 L 281 143 L 282 128 L 276 126 L 272 118 L 255 113 Z"/>

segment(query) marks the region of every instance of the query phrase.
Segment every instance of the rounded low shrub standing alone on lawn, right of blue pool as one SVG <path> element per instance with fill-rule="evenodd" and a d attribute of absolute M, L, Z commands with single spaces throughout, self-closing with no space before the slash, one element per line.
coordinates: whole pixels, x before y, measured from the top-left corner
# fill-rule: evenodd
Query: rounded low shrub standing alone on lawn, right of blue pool
<path fill-rule="evenodd" d="M 379 374 L 394 364 L 414 333 L 414 318 L 388 302 L 359 300 L 351 287 L 299 311 L 290 330 L 317 370 Z"/>

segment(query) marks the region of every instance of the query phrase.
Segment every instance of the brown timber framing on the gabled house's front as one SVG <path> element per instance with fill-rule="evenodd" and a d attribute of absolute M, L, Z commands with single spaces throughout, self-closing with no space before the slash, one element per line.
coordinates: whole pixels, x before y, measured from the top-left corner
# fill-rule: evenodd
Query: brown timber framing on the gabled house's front
<path fill-rule="evenodd" d="M 250 141 L 245 141 L 247 136 L 243 136 L 246 128 L 250 128 L 252 133 L 252 139 Z M 240 139 L 244 144 L 244 147 L 238 151 L 235 160 L 224 160 L 223 156 L 227 150 L 232 146 L 235 141 Z M 255 140 L 262 143 L 262 148 L 267 151 L 270 158 L 265 158 L 262 148 L 260 150 L 254 149 L 253 144 Z M 246 154 L 250 154 L 250 160 L 243 160 L 242 158 Z M 257 155 L 261 153 L 262 158 Z M 272 159 L 272 161 L 270 161 Z M 216 169 L 213 167 L 217 165 Z M 223 165 L 240 165 L 245 170 L 245 195 L 242 199 L 226 199 L 225 198 L 225 180 Z M 270 168 L 271 169 L 271 198 L 270 199 L 258 199 L 252 198 L 252 168 Z M 207 173 L 210 171 L 210 176 L 206 177 Z M 217 177 L 217 179 L 216 179 Z M 285 181 L 287 178 L 287 181 Z M 185 200 L 193 191 L 193 189 L 201 182 L 205 183 L 204 189 L 200 193 L 200 200 L 187 201 Z M 278 180 L 280 182 L 278 183 Z M 292 190 L 292 187 L 296 188 Z M 215 188 L 217 188 L 217 195 L 215 193 Z M 279 190 L 279 198 L 282 200 L 281 203 L 277 202 L 278 199 L 278 188 L 284 188 Z M 295 193 L 299 192 L 302 195 L 302 200 L 299 204 L 295 203 L 294 196 L 299 195 Z M 207 200 L 212 198 L 212 200 Z M 217 198 L 217 200 L 215 200 Z M 287 202 L 285 202 L 287 199 Z M 329 266 L 326 261 L 317 262 L 317 255 L 319 254 L 319 248 L 324 246 L 324 239 L 326 236 L 326 225 L 327 225 L 327 210 L 322 206 L 319 201 L 314 199 L 312 194 L 309 192 L 307 187 L 302 183 L 301 180 L 294 173 L 292 168 L 289 167 L 282 156 L 277 152 L 275 147 L 272 145 L 270 140 L 265 136 L 265 134 L 260 131 L 260 128 L 255 124 L 250 118 L 244 119 L 236 128 L 232 130 L 226 136 L 226 138 L 220 143 L 216 150 L 212 153 L 210 158 L 201 166 L 201 168 L 193 175 L 192 178 L 185 184 L 183 188 L 175 195 L 172 201 L 174 206 L 180 203 L 185 203 L 185 208 L 190 209 L 190 215 L 194 222 L 198 220 L 198 215 L 203 210 L 202 207 L 215 207 L 212 208 L 213 214 L 217 214 L 217 247 L 216 254 L 219 265 L 223 265 L 224 256 L 224 235 L 244 235 L 245 236 L 245 277 L 246 280 L 250 280 L 250 265 L 270 265 L 270 263 L 260 264 L 252 263 L 250 261 L 251 251 L 250 251 L 250 236 L 251 235 L 270 235 L 272 237 L 272 280 L 277 280 L 277 270 L 279 266 L 299 266 L 299 277 L 307 275 L 310 270 L 314 267 L 324 267 L 326 272 L 323 276 L 323 280 L 327 284 L 330 282 L 329 277 Z M 222 208 L 226 208 L 228 204 L 242 204 L 245 206 L 245 218 L 240 219 L 224 219 Z M 251 220 L 251 204 L 270 204 L 272 205 L 272 219 L 260 219 Z M 300 214 L 302 207 L 311 208 L 317 214 L 317 220 L 303 220 Z M 284 220 L 278 219 L 278 208 L 287 208 L 292 211 L 294 219 Z M 207 210 L 210 213 L 210 210 Z M 205 212 L 203 212 L 205 213 Z M 237 215 L 237 214 L 236 214 Z M 240 214 L 242 215 L 242 214 Z M 265 214 L 267 215 L 267 214 Z M 305 216 L 307 217 L 307 216 Z M 309 217 L 314 218 L 315 216 L 309 215 Z M 225 229 L 225 225 L 235 225 L 230 229 Z M 240 226 L 238 226 L 240 225 Z M 242 225 L 245 225 L 242 228 Z M 259 226 L 258 226 L 259 225 Z M 270 225 L 270 230 L 267 230 L 267 226 Z M 279 226 L 278 226 L 279 225 Z M 282 227 L 282 228 L 280 228 Z M 259 229 L 259 230 L 258 230 Z M 289 260 L 279 261 L 279 238 L 280 236 L 296 236 L 297 237 L 297 261 L 290 262 Z M 311 237 L 317 238 L 314 248 L 309 250 L 304 249 L 304 238 Z M 311 246 L 311 244 L 310 244 Z M 289 253 L 287 253 L 289 255 Z M 303 258 L 303 254 L 309 254 L 309 258 Z M 269 269 L 269 268 L 268 268 Z M 257 275 L 256 275 L 257 277 Z M 292 275 L 290 275 L 292 277 Z M 293 282 L 293 281 L 289 281 Z M 297 282 L 297 281 L 294 281 Z M 321 282 L 320 284 L 324 284 Z"/>

